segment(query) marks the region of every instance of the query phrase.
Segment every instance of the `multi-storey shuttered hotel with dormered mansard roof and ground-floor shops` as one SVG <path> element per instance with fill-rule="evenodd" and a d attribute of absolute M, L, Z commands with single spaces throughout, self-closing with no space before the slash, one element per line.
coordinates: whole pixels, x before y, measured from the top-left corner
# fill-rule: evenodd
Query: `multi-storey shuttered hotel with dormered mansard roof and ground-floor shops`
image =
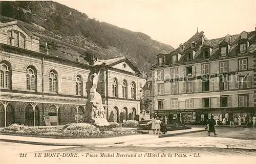
<path fill-rule="evenodd" d="M 153 110 L 170 123 L 198 123 L 255 114 L 256 29 L 207 39 L 197 32 L 168 54 L 158 54 L 153 71 Z"/>

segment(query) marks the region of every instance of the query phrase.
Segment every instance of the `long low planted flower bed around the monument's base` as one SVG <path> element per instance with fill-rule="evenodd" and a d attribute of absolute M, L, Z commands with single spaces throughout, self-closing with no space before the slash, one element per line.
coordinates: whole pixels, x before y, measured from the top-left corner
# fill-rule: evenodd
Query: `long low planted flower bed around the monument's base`
<path fill-rule="evenodd" d="M 57 139 L 76 138 L 110 138 L 114 136 L 133 135 L 140 133 L 137 130 L 119 127 L 116 123 L 109 126 L 97 127 L 88 123 L 71 123 L 63 127 L 28 127 L 24 125 L 11 124 L 1 130 L 2 134 L 14 134 L 22 136 L 37 136 Z"/>

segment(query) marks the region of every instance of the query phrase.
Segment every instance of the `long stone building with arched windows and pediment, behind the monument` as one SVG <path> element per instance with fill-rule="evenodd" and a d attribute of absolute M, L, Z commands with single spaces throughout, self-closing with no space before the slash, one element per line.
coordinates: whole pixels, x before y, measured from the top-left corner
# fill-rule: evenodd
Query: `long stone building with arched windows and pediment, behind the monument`
<path fill-rule="evenodd" d="M 82 121 L 92 74 L 109 121 L 139 114 L 141 73 L 125 58 L 90 61 L 57 51 L 39 51 L 39 38 L 18 21 L 0 24 L 0 127 L 63 125 Z"/>

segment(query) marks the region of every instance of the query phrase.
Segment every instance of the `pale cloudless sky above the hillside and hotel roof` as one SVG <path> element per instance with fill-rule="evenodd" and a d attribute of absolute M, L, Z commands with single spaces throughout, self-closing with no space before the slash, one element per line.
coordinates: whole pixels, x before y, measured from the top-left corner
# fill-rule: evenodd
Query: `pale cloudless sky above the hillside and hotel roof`
<path fill-rule="evenodd" d="M 120 28 L 177 48 L 198 31 L 208 39 L 254 31 L 256 0 L 57 0 Z"/>

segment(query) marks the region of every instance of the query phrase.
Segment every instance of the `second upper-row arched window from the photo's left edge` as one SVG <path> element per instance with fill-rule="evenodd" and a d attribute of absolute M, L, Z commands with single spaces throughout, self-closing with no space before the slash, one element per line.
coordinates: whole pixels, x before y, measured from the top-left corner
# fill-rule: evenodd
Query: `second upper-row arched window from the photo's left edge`
<path fill-rule="evenodd" d="M 33 66 L 27 68 L 27 90 L 36 91 L 36 69 Z"/>

